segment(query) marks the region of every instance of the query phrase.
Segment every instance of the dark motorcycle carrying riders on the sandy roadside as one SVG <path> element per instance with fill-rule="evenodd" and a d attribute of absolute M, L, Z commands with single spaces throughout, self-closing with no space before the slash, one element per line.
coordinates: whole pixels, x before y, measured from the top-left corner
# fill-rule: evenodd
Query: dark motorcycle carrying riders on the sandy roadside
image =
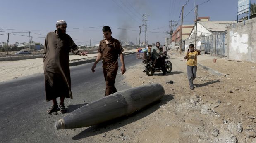
<path fill-rule="evenodd" d="M 165 59 L 165 67 L 166 67 L 166 72 L 170 73 L 172 71 L 172 63 L 169 61 L 170 56 L 167 54 L 168 50 L 167 49 L 166 52 L 163 54 L 163 58 Z M 151 76 L 153 75 L 155 72 L 161 72 L 162 68 L 161 67 L 156 67 L 154 68 L 153 61 L 151 59 L 144 59 L 143 63 L 145 64 L 145 70 L 143 72 L 146 73 L 146 75 Z"/>

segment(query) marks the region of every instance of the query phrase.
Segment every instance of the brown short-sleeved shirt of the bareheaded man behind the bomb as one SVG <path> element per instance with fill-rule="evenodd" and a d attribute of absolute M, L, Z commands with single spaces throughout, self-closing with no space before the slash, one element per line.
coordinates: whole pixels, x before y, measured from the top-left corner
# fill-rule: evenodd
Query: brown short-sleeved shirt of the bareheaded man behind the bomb
<path fill-rule="evenodd" d="M 100 41 L 98 53 L 102 54 L 103 68 L 118 68 L 118 55 L 124 51 L 120 42 L 111 36 L 110 42 L 106 44 L 105 39 Z"/>

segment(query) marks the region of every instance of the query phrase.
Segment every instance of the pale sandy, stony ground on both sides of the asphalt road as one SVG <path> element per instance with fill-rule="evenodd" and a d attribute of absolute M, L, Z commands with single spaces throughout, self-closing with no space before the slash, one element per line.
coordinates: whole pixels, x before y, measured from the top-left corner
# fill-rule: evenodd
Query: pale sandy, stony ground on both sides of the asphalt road
<path fill-rule="evenodd" d="M 114 128 L 117 121 L 97 127 L 92 129 L 96 134 L 88 138 L 110 143 L 256 143 L 256 63 L 218 57 L 213 63 L 202 57 L 198 56 L 199 63 L 227 76 L 198 68 L 194 90 L 189 89 L 184 55 L 171 55 L 172 63 L 180 66 L 167 76 L 147 76 L 143 64 L 134 65 L 122 82 L 132 87 L 160 83 L 165 96 L 120 121 L 124 126 Z M 75 58 L 81 56 L 70 56 Z M 42 58 L 0 62 L 1 82 L 42 72 Z M 174 83 L 167 84 L 170 80 Z"/>

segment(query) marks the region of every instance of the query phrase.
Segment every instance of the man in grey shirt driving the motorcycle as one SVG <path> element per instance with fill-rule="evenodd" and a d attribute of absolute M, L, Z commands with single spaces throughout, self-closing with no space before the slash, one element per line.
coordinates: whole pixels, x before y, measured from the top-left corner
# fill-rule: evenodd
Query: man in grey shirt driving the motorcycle
<path fill-rule="evenodd" d="M 151 49 L 151 60 L 153 61 L 153 67 L 155 68 L 162 68 L 163 75 L 166 75 L 166 67 L 165 67 L 165 59 L 161 55 L 164 54 L 164 52 L 161 52 L 160 49 L 160 42 L 156 42 L 156 46 L 154 46 Z"/>

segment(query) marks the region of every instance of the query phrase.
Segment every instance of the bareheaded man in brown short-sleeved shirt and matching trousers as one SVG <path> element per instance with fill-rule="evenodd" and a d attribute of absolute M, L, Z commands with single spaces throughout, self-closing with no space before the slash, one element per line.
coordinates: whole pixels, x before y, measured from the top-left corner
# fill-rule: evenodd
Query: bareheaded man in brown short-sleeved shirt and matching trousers
<path fill-rule="evenodd" d="M 96 64 L 101 60 L 103 63 L 103 73 L 106 81 L 106 92 L 105 96 L 113 94 L 117 92 L 115 88 L 115 77 L 117 75 L 118 70 L 118 55 L 120 56 L 120 61 L 122 63 L 121 72 L 125 73 L 125 65 L 124 65 L 124 49 L 120 45 L 120 42 L 117 39 L 114 39 L 111 34 L 111 29 L 109 26 L 104 26 L 102 28 L 102 32 L 104 35 L 104 39 L 100 41 L 100 46 L 98 48 L 98 56 L 93 66 L 91 67 L 91 71 L 95 72 Z"/>

